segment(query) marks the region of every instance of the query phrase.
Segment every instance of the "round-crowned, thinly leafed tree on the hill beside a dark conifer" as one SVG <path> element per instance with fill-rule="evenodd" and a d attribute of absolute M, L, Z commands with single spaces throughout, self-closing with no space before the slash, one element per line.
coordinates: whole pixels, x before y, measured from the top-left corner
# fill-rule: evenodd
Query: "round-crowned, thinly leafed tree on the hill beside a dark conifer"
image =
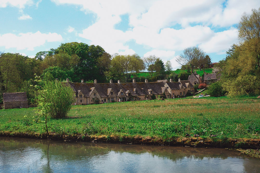
<path fill-rule="evenodd" d="M 184 49 L 183 54 L 176 58 L 176 61 L 180 65 L 188 65 L 191 68 L 191 73 L 193 69 L 200 65 L 200 62 L 205 57 L 205 53 L 199 47 L 189 47 Z M 188 69 L 187 69 L 188 70 Z"/>

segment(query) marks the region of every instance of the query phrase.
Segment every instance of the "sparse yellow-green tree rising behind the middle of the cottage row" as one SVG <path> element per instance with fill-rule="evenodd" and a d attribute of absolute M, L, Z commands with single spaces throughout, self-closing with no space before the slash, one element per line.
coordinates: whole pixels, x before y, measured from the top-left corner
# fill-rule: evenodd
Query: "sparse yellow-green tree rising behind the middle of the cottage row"
<path fill-rule="evenodd" d="M 131 78 L 134 72 L 144 69 L 143 62 L 137 54 L 134 55 L 116 55 L 111 60 L 110 75 L 120 75 L 125 82 Z"/>

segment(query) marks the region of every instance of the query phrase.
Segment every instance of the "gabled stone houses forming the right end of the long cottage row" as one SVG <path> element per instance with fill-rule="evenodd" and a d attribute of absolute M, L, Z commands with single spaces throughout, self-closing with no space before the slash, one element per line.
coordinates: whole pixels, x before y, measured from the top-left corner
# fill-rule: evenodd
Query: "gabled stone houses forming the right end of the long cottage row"
<path fill-rule="evenodd" d="M 170 79 L 170 82 L 165 83 L 165 87 L 167 88 L 168 92 L 171 94 L 171 98 L 173 96 L 184 96 L 187 93 L 193 93 L 194 94 L 194 86 L 190 81 L 181 81 L 179 79 L 178 82 L 172 82 L 172 79 Z"/>

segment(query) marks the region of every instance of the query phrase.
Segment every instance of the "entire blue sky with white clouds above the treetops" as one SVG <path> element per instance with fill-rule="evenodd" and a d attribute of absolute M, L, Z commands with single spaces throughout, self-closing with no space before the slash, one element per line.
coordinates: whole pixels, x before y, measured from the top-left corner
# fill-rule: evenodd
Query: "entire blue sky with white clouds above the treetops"
<path fill-rule="evenodd" d="M 33 58 L 61 43 L 100 45 L 109 54 L 155 55 L 173 70 L 185 48 L 218 62 L 239 43 L 237 25 L 259 0 L 0 0 L 0 51 Z"/>

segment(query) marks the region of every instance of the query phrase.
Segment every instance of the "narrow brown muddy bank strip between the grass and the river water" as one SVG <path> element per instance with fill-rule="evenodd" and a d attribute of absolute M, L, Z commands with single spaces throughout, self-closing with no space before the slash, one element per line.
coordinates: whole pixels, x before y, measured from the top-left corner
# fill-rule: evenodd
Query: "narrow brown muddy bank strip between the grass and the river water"
<path fill-rule="evenodd" d="M 0 132 L 4 137 L 23 137 L 23 138 L 42 138 L 47 139 L 47 134 L 37 133 L 10 133 Z M 50 133 L 49 139 L 62 141 L 85 141 L 85 142 L 104 142 L 104 143 L 123 143 L 141 145 L 168 145 L 168 146 L 187 146 L 187 147 L 217 147 L 217 148 L 242 148 L 260 149 L 260 139 L 219 139 L 202 137 L 179 137 L 173 139 L 161 139 L 156 137 L 141 136 L 89 136 L 89 135 L 61 135 Z"/>

